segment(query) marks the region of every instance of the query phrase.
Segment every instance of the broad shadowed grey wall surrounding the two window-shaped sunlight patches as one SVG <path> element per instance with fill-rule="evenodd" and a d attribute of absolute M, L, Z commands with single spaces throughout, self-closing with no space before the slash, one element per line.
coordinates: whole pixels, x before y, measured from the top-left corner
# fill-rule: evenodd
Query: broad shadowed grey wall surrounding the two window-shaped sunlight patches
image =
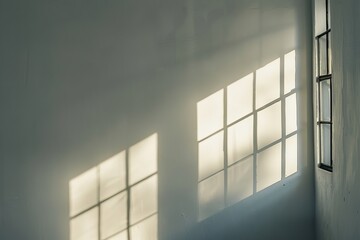
<path fill-rule="evenodd" d="M 68 239 L 69 181 L 157 132 L 160 240 L 314 239 L 310 9 L 1 0 L 0 238 Z M 297 174 L 198 222 L 196 103 L 291 50 Z"/>

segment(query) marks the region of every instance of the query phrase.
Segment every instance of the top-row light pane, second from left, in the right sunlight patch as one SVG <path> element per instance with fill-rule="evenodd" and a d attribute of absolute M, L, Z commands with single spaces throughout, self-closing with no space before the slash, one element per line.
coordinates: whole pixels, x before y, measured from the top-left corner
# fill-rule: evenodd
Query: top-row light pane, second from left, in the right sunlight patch
<path fill-rule="evenodd" d="M 227 123 L 230 124 L 253 109 L 253 74 L 232 83 L 227 87 Z"/>

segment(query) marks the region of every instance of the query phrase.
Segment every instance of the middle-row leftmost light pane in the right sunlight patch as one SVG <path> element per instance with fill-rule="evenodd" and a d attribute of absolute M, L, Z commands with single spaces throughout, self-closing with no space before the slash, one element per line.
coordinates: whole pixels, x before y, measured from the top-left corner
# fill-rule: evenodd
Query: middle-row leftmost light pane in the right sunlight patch
<path fill-rule="evenodd" d="M 199 143 L 199 180 L 224 168 L 224 132 Z"/>

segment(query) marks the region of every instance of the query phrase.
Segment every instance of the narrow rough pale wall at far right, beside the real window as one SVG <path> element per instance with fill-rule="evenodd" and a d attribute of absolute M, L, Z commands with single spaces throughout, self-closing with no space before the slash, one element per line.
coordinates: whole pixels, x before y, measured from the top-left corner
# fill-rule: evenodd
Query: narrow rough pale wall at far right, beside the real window
<path fill-rule="evenodd" d="M 316 170 L 320 240 L 360 237 L 359 14 L 356 0 L 332 0 L 334 138 L 333 173 Z"/>

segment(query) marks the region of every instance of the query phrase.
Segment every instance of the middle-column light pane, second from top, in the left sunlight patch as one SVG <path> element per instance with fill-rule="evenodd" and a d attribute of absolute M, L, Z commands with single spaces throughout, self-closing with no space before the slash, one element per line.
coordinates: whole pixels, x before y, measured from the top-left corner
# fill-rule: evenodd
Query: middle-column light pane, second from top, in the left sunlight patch
<path fill-rule="evenodd" d="M 101 239 L 124 230 L 127 226 L 127 194 L 122 192 L 100 206 Z"/>

